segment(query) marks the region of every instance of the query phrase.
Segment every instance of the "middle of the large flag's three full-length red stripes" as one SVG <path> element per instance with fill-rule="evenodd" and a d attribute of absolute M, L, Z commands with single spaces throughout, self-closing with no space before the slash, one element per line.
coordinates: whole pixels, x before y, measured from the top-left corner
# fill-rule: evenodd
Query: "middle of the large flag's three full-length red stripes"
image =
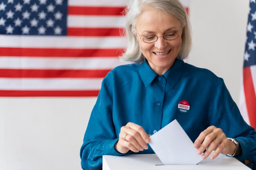
<path fill-rule="evenodd" d="M 34 70 L 0 69 L 8 78 L 104 78 L 110 70 Z"/>

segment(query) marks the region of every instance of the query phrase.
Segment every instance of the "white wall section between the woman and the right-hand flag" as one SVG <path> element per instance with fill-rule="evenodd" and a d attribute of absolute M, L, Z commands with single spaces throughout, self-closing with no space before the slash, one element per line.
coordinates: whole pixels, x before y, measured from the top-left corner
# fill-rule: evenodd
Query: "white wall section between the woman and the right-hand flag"
<path fill-rule="evenodd" d="M 191 0 L 188 62 L 222 77 L 238 104 L 249 0 Z"/>

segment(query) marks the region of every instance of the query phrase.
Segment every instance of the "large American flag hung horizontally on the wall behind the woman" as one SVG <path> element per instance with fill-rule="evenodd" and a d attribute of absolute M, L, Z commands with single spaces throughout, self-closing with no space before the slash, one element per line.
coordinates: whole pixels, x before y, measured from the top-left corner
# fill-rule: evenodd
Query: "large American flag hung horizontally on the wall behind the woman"
<path fill-rule="evenodd" d="M 0 96 L 97 96 L 126 64 L 118 56 L 127 2 L 1 0 Z"/>

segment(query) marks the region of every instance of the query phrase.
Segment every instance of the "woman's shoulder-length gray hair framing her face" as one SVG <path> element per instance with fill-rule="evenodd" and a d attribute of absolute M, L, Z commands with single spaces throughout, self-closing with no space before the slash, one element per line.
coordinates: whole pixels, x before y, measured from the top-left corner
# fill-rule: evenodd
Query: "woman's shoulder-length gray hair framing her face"
<path fill-rule="evenodd" d="M 160 12 L 169 14 L 180 20 L 183 27 L 181 36 L 182 46 L 177 58 L 181 60 L 185 59 L 191 50 L 192 34 L 189 17 L 179 0 L 130 0 L 128 7 L 124 11 L 124 15 L 126 15 L 125 36 L 128 42 L 126 50 L 120 59 L 135 63 L 142 63 L 145 60 L 139 48 L 139 42 L 135 37 L 135 23 L 139 15 L 147 10 L 148 7 L 153 7 Z"/>

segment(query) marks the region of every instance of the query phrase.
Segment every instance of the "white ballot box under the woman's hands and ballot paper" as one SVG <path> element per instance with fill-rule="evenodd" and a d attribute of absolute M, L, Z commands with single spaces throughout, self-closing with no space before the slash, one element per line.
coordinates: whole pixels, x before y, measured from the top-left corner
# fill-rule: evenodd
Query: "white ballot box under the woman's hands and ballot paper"
<path fill-rule="evenodd" d="M 250 170 L 235 158 L 219 155 L 197 165 L 162 165 L 155 154 L 103 156 L 103 170 Z"/>

